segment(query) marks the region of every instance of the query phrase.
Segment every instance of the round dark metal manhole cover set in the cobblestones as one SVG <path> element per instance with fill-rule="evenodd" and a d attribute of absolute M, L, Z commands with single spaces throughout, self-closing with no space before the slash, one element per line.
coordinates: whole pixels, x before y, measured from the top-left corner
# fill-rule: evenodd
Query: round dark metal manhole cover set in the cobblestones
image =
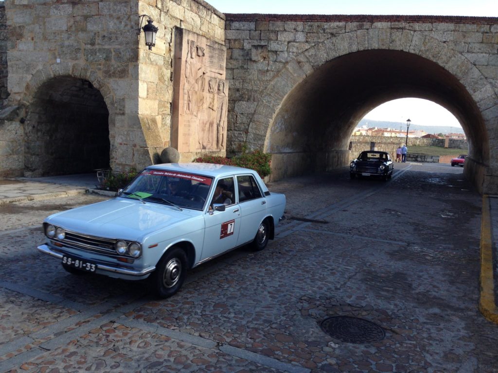
<path fill-rule="evenodd" d="M 333 338 L 348 343 L 370 343 L 384 339 L 384 330 L 372 321 L 350 316 L 335 316 L 320 324 Z"/>

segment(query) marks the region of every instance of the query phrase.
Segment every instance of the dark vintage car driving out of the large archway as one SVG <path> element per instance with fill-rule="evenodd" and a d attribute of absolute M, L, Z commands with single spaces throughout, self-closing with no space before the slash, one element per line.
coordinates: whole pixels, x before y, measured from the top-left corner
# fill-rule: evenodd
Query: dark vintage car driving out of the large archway
<path fill-rule="evenodd" d="M 393 163 L 389 153 L 374 150 L 361 152 L 350 164 L 351 179 L 356 176 L 379 177 L 384 180 L 392 176 Z"/>

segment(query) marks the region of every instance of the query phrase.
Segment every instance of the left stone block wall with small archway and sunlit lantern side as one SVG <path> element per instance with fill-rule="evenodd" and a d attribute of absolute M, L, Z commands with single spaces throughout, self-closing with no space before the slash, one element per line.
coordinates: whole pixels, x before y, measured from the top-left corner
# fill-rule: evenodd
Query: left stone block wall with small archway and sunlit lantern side
<path fill-rule="evenodd" d="M 137 33 L 140 14 L 149 15 L 159 28 L 151 51 L 144 45 L 143 32 Z M 0 172 L 18 176 L 23 169 L 24 118 L 40 87 L 59 77 L 88 81 L 102 94 L 109 111 L 114 170 L 153 163 L 170 145 L 177 27 L 225 43 L 224 15 L 202 0 L 23 0 L 1 6 L 0 98 L 7 95 L 1 90 L 6 80 L 1 64 L 8 61 L 9 96 L 4 106 L 21 105 L 27 112 L 0 115 L 0 156 L 12 159 L 8 164 L 2 161 Z M 12 136 L 18 141 L 4 141 Z"/>

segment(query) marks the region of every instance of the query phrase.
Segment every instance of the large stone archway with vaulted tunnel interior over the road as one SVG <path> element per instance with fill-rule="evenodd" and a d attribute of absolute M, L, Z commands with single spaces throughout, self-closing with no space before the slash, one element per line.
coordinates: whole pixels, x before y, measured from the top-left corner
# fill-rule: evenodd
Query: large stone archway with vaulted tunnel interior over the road
<path fill-rule="evenodd" d="M 400 97 L 441 104 L 470 146 L 466 174 L 480 190 L 494 184 L 490 143 L 498 98 L 462 54 L 422 31 L 357 30 L 315 44 L 287 62 L 255 105 L 247 142 L 272 153 L 275 180 L 347 165 L 358 121 Z M 386 36 L 387 35 L 387 36 Z M 491 171 L 490 171 L 491 170 Z"/>

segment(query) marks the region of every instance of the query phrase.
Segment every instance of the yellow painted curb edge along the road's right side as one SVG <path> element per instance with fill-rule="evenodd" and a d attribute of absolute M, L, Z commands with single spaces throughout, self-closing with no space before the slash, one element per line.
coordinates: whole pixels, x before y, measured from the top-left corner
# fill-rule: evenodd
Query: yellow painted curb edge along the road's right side
<path fill-rule="evenodd" d="M 490 200 L 483 195 L 481 218 L 481 297 L 479 310 L 488 320 L 498 324 L 498 308 L 495 303 L 495 282 L 493 279 L 493 240 L 491 238 Z"/>

